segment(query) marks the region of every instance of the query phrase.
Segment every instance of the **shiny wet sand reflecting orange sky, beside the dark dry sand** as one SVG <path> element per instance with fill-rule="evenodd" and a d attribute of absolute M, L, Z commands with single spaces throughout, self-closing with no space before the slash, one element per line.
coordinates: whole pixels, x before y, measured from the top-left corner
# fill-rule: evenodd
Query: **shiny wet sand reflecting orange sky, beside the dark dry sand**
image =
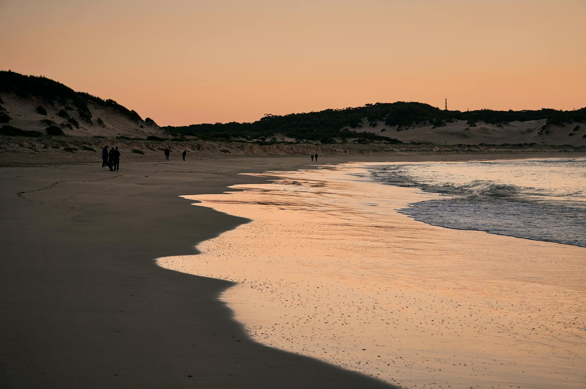
<path fill-rule="evenodd" d="M 236 281 L 250 336 L 405 388 L 583 388 L 583 247 L 426 225 L 437 198 L 349 173 L 273 172 L 187 196 L 253 221 L 159 265 Z"/>

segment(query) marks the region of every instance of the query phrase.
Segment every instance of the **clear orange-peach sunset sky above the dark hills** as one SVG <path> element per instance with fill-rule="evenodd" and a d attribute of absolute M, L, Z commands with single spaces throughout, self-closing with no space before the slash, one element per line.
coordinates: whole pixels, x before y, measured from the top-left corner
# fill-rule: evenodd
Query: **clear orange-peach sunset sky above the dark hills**
<path fill-rule="evenodd" d="M 159 125 L 420 101 L 586 106 L 585 0 L 0 0 L 0 69 Z"/>

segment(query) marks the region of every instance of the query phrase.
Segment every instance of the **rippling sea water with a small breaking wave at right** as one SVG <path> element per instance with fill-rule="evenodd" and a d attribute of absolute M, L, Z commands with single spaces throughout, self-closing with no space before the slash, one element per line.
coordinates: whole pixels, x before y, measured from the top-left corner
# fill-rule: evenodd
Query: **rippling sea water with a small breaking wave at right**
<path fill-rule="evenodd" d="M 390 164 L 370 177 L 445 197 L 399 210 L 418 221 L 586 247 L 586 159 Z"/>

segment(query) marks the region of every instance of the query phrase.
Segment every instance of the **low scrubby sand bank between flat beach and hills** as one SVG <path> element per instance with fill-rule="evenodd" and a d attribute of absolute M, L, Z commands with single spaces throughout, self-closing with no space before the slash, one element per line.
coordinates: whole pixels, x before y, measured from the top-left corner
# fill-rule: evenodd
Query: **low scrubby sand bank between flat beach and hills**
<path fill-rule="evenodd" d="M 441 156 L 451 160 L 455 156 L 465 159 L 478 159 L 482 156 L 507 156 L 517 158 L 519 156 L 540 156 L 546 158 L 563 156 L 584 156 L 586 146 L 539 146 L 539 145 L 441 145 L 441 144 L 403 144 L 385 145 L 373 144 L 364 146 L 360 144 L 274 144 L 270 146 L 259 146 L 258 144 L 243 143 L 222 143 L 222 142 L 148 142 L 142 143 L 121 139 L 87 139 L 79 137 L 67 137 L 64 139 L 51 140 L 43 143 L 35 143 L 31 139 L 21 139 L 21 142 L 11 143 L 11 139 L 0 137 L 0 166 L 52 166 L 52 165 L 76 165 L 94 164 L 101 160 L 100 144 L 120 146 L 122 153 L 121 163 L 128 162 L 161 162 L 161 146 L 171 149 L 173 162 L 180 162 L 180 153 L 187 150 L 187 161 L 197 162 L 203 160 L 241 160 L 241 159 L 263 159 L 263 158 L 299 158 L 304 159 L 309 154 L 319 153 L 321 158 L 328 160 L 348 161 L 352 159 L 383 159 L 402 158 L 418 161 L 422 157 L 434 158 Z M 4 143 L 4 144 L 3 144 Z M 54 147 L 59 149 L 53 149 Z M 16 145 L 16 146 L 15 146 Z M 18 146 L 18 147 L 17 147 Z M 73 148 L 76 151 L 65 152 L 65 147 Z M 133 149 L 143 154 L 132 152 Z M 93 151 L 92 151 L 93 150 Z M 223 152 L 221 150 L 224 150 Z"/>

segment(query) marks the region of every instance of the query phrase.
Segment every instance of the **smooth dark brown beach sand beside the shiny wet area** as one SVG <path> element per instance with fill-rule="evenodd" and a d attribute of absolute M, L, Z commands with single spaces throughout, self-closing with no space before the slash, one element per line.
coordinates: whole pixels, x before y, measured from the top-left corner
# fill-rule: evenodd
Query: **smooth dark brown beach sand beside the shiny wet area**
<path fill-rule="evenodd" d="M 190 206 L 179 195 L 263 184 L 263 177 L 237 174 L 308 163 L 295 157 L 122 163 L 120 173 L 101 169 L 98 160 L 5 167 L 0 387 L 384 387 L 248 338 L 218 300 L 234 283 L 156 266 L 156 258 L 195 254 L 194 245 L 248 222 Z"/>

